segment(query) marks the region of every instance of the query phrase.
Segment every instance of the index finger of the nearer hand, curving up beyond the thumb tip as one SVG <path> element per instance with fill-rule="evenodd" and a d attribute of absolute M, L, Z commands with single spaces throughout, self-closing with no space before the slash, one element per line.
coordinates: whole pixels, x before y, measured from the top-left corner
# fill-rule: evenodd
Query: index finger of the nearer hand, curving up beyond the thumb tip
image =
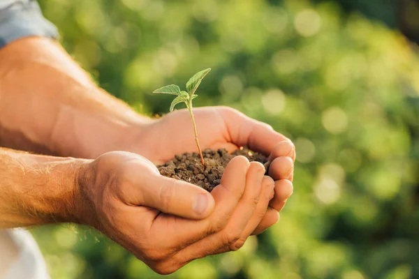
<path fill-rule="evenodd" d="M 159 245 L 176 250 L 189 246 L 208 234 L 214 234 L 226 227 L 237 204 L 240 202 L 246 186 L 249 160 L 236 156 L 228 163 L 221 178 L 221 184 L 212 190 L 215 209 L 204 220 L 186 220 L 175 216 L 157 216 L 150 228 Z M 163 234 L 162 234 L 163 230 Z"/>

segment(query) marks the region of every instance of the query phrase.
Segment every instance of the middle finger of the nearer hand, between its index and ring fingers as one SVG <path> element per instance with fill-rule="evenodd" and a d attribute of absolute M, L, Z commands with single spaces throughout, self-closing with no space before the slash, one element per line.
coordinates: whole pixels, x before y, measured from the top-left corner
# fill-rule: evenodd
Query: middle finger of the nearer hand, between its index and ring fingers
<path fill-rule="evenodd" d="M 177 257 L 188 261 L 212 255 L 216 250 L 224 246 L 230 246 L 230 250 L 237 250 L 240 247 L 232 246 L 242 236 L 247 223 L 253 216 L 258 204 L 262 180 L 265 168 L 258 162 L 252 162 L 246 175 L 246 189 L 240 199 L 228 224 L 220 232 L 216 232 L 205 239 L 202 239 L 191 246 L 184 248 L 177 254 Z M 221 182 L 222 183 L 222 182 Z"/>

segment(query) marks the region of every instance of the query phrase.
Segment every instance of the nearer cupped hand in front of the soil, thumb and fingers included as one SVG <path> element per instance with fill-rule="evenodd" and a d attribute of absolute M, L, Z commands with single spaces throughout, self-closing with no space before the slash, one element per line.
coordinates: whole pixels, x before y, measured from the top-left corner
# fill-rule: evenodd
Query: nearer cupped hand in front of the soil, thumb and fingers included
<path fill-rule="evenodd" d="M 80 223 L 91 225 L 154 271 L 168 274 L 193 259 L 237 250 L 263 218 L 274 181 L 237 156 L 212 193 L 159 174 L 142 156 L 105 153 L 78 172 Z"/>

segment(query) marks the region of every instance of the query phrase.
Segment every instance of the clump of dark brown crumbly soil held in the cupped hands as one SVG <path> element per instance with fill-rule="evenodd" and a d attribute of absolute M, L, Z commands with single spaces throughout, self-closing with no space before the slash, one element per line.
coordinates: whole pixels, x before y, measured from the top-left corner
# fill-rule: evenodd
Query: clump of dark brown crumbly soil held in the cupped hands
<path fill-rule="evenodd" d="M 178 154 L 158 168 L 163 176 L 184 180 L 211 192 L 221 182 L 221 176 L 223 176 L 228 162 L 240 155 L 248 158 L 249 161 L 262 163 L 265 165 L 265 169 L 269 167 L 267 158 L 263 154 L 253 153 L 247 148 L 242 148 L 231 154 L 226 149 L 205 149 L 203 151 L 205 166 L 202 165 L 200 156 L 196 152 Z"/>

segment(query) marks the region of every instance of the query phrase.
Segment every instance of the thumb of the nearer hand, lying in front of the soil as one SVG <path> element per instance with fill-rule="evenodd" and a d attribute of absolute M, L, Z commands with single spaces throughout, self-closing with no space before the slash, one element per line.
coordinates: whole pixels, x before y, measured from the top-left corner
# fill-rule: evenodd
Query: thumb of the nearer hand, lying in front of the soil
<path fill-rule="evenodd" d="M 138 195 L 142 206 L 189 219 L 204 219 L 214 211 L 214 198 L 203 188 L 159 174 L 147 180 Z"/>

